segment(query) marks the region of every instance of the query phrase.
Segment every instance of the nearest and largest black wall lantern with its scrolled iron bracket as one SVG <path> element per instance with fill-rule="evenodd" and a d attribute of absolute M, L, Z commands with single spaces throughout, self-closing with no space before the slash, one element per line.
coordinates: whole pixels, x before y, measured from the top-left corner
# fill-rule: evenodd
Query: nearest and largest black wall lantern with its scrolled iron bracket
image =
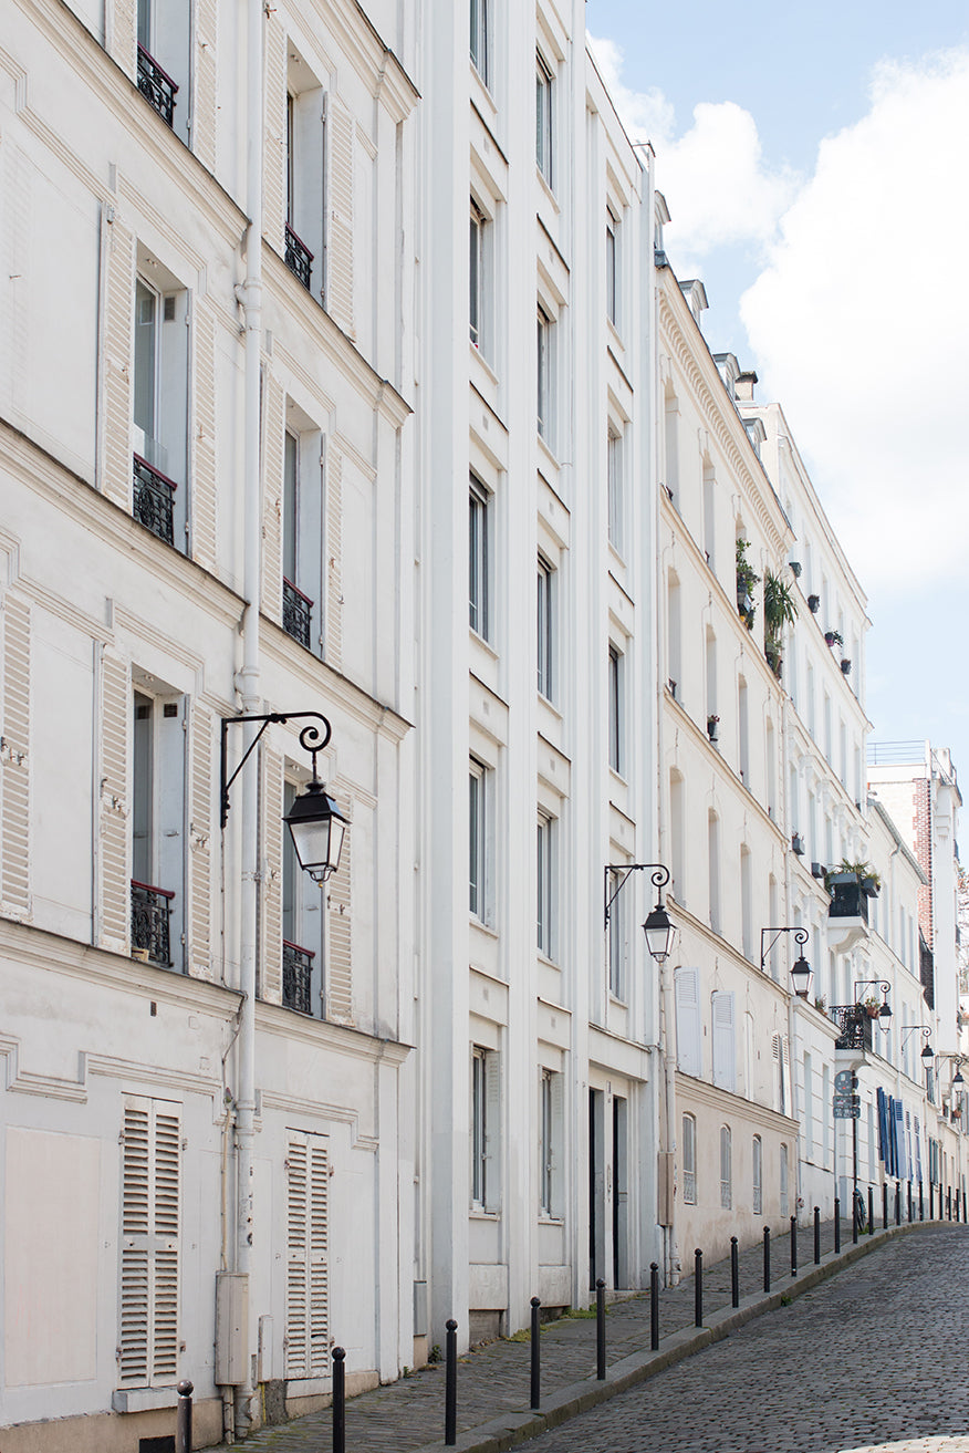
<path fill-rule="evenodd" d="M 324 750 L 333 734 L 330 722 L 320 712 L 269 712 L 264 716 L 222 716 L 219 811 L 221 824 L 225 828 L 230 809 L 230 788 L 270 722 L 285 725 L 289 721 L 305 721 L 307 718 L 312 718 L 314 722 L 323 722 L 323 731 L 311 724 L 299 732 L 299 745 L 312 757 L 312 782 L 307 786 L 305 792 L 299 793 L 283 822 L 289 828 L 296 862 L 315 882 L 323 883 L 340 866 L 340 850 L 343 847 L 347 819 L 317 776 L 317 753 Z M 237 726 L 241 722 L 261 722 L 263 725 L 256 732 L 243 760 L 230 777 L 228 728 Z"/>

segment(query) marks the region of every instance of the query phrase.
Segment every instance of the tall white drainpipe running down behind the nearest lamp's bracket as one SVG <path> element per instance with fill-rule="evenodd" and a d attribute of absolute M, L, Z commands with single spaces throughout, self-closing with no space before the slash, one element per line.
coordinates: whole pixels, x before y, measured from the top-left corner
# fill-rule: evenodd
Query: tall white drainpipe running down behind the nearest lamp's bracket
<path fill-rule="evenodd" d="M 246 414 L 244 414 L 244 565 L 243 593 L 243 668 L 237 690 L 243 712 L 260 711 L 259 680 L 259 602 L 260 602 L 260 366 L 263 314 L 263 0 L 248 0 L 247 35 L 247 212 L 246 283 L 241 289 L 243 331 L 246 336 Z M 243 750 L 254 741 L 257 725 L 243 728 Z M 235 1096 L 235 1270 L 253 1280 L 253 1149 L 256 1138 L 256 965 L 257 965 L 257 894 L 259 894 L 259 783 L 257 756 L 240 777 L 241 788 L 241 926 L 240 989 L 243 991 L 238 1035 L 238 1090 Z M 253 1359 L 246 1329 L 246 1377 L 235 1388 L 235 1434 L 246 1437 L 251 1427 L 254 1393 Z"/>

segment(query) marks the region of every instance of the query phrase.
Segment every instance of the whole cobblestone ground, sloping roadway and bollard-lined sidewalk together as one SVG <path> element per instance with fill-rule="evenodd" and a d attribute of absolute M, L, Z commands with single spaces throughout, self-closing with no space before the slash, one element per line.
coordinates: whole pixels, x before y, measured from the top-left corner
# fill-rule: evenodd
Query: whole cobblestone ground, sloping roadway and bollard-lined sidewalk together
<path fill-rule="evenodd" d="M 867 1238 L 863 1238 L 863 1247 Z M 645 1376 L 601 1405 L 571 1417 L 565 1404 L 606 1393 L 594 1380 L 594 1321 L 564 1319 L 542 1334 L 542 1412 L 529 1414 L 529 1347 L 492 1343 L 459 1364 L 458 1447 L 495 1450 L 538 1433 L 535 1453 L 649 1450 L 649 1453 L 841 1453 L 891 1444 L 895 1453 L 969 1453 L 969 1389 L 962 1328 L 969 1311 L 969 1228 L 931 1225 L 883 1237 L 870 1254 L 835 1270 L 824 1228 L 825 1270 L 811 1290 L 792 1292 L 815 1273 L 812 1239 L 799 1238 L 798 1282 L 790 1242 L 773 1247 L 774 1309 L 723 1340 L 689 1353 L 709 1332 L 693 1327 L 693 1279 L 660 1298 L 661 1353 L 681 1357 L 664 1372 L 649 1361 L 649 1298 L 615 1303 L 607 1318 L 610 1379 Z M 850 1257 L 850 1229 L 843 1229 Z M 843 1258 L 844 1260 L 844 1258 Z M 764 1308 L 761 1248 L 741 1257 L 741 1309 Z M 729 1318 L 729 1263 L 705 1274 L 706 1325 Z M 678 1345 L 677 1345 L 678 1344 Z M 657 1354 L 660 1356 L 660 1354 Z M 443 1369 L 429 1367 L 347 1404 L 347 1453 L 442 1449 Z M 562 1411 L 556 1414 L 556 1407 Z M 574 1411 L 574 1407 L 572 1409 Z M 905 1441 L 904 1441 L 905 1440 Z M 250 1453 L 327 1453 L 330 1412 L 266 1428 Z"/>

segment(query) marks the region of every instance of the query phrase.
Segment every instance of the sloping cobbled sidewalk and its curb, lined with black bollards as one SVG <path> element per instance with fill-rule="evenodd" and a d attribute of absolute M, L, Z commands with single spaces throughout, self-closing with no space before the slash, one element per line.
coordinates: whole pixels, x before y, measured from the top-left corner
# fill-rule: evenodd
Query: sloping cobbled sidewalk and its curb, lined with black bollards
<path fill-rule="evenodd" d="M 930 1223 L 925 1223 L 930 1225 Z M 934 1222 L 931 1225 L 938 1225 Z M 954 1223 L 953 1223 L 954 1225 Z M 594 1316 L 564 1316 L 542 1327 L 542 1404 L 529 1411 L 530 1345 L 498 1340 L 458 1361 L 458 1449 L 498 1453 L 535 1437 L 585 1408 L 635 1386 L 674 1361 L 689 1357 L 737 1327 L 771 1311 L 835 1274 L 912 1226 L 877 1226 L 851 1244 L 851 1222 L 841 1223 L 841 1254 L 834 1254 L 834 1222 L 821 1228 L 821 1264 L 814 1264 L 814 1229 L 798 1231 L 798 1276 L 790 1273 L 790 1235 L 771 1237 L 771 1292 L 763 1289 L 763 1245 L 739 1255 L 739 1308 L 731 1308 L 729 1258 L 703 1268 L 703 1328 L 694 1325 L 694 1279 L 660 1292 L 660 1350 L 649 1351 L 649 1293 L 613 1302 L 606 1316 L 604 1382 L 596 1379 Z M 684 1252 L 684 1271 L 693 1257 Z M 689 1263 L 689 1267 L 687 1267 Z M 519 1334 L 523 1335 L 523 1334 Z M 424 1367 L 346 1405 L 347 1453 L 430 1453 L 443 1449 L 445 1367 Z M 263 1428 L 246 1440 L 247 1450 L 327 1453 L 333 1446 L 330 1409 Z"/>

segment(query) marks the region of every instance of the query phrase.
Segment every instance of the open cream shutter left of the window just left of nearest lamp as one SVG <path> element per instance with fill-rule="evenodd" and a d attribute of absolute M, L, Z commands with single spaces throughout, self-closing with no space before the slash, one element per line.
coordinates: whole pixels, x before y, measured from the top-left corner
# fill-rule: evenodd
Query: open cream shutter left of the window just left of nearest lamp
<path fill-rule="evenodd" d="M 102 657 L 100 732 L 100 946 L 126 952 L 131 927 L 128 737 L 131 677 L 116 655 Z"/>

